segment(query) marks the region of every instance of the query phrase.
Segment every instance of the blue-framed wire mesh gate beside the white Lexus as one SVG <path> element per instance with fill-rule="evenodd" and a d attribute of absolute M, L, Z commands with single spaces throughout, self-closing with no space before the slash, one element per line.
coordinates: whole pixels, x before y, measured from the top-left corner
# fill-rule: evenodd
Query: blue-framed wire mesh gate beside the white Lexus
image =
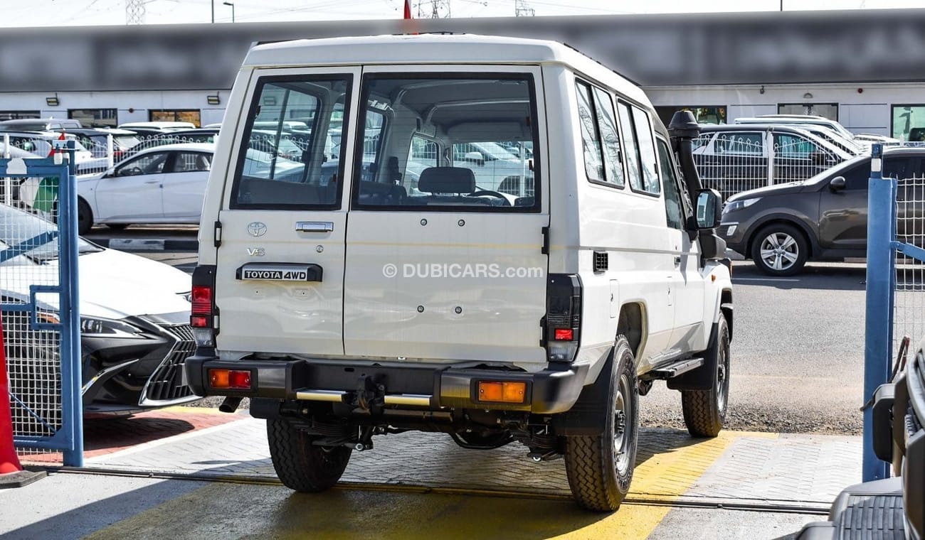
<path fill-rule="evenodd" d="M 0 159 L 0 178 L 13 178 L 18 186 L 20 180 L 39 180 L 32 189 L 31 207 L 2 207 L 0 309 L 14 443 L 18 449 L 60 451 L 65 465 L 79 467 L 83 464 L 83 424 L 74 144 L 60 141 L 57 146 L 54 157 Z M 67 161 L 62 160 L 65 154 L 70 158 Z M 39 192 L 44 199 L 35 198 Z M 43 213 L 45 219 L 36 218 L 36 213 Z M 52 260 L 56 264 L 50 264 Z M 11 276 L 29 279 L 26 261 L 35 267 L 56 268 L 57 275 L 54 279 L 36 276 L 28 287 L 11 286 Z"/>

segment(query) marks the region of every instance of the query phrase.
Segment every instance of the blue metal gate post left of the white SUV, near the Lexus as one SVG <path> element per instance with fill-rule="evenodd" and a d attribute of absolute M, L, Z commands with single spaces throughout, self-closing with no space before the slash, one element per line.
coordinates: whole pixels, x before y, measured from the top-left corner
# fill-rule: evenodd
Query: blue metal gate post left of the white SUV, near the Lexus
<path fill-rule="evenodd" d="M 77 273 L 77 163 L 74 162 L 74 141 L 67 143 L 68 168 L 58 181 L 58 229 L 61 249 L 61 358 L 69 363 L 61 378 L 66 376 L 69 395 L 62 396 L 62 420 L 72 437 L 71 450 L 65 450 L 63 462 L 69 467 L 83 466 L 83 403 L 80 387 L 80 287 Z M 66 353 L 67 348 L 67 354 Z M 65 385 L 62 385 L 65 387 Z"/>

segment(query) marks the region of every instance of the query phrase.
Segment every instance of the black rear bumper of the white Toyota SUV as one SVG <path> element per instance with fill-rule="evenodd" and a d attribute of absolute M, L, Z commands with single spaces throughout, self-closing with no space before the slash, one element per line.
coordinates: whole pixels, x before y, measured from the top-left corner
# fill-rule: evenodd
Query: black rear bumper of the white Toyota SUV
<path fill-rule="evenodd" d="M 214 389 L 209 369 L 251 372 L 251 390 Z M 462 408 L 556 414 L 568 411 L 585 384 L 587 365 L 550 364 L 527 373 L 435 364 L 381 365 L 363 361 L 331 360 L 219 360 L 194 355 L 186 359 L 186 378 L 201 396 L 239 396 L 316 402 L 355 402 L 370 388 L 386 406 L 427 409 Z M 526 383 L 523 403 L 480 402 L 477 383 L 485 380 Z"/>

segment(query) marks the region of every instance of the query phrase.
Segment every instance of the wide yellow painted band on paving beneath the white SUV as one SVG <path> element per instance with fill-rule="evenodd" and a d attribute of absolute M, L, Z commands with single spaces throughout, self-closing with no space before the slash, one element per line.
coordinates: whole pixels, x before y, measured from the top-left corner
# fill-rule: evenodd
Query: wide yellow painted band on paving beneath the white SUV
<path fill-rule="evenodd" d="M 684 495 L 737 438 L 744 437 L 778 434 L 723 432 L 644 458 L 636 465 L 629 495 L 633 502 L 611 514 L 582 510 L 561 497 L 486 497 L 494 494 L 423 486 L 341 485 L 302 494 L 283 486 L 210 484 L 85 538 L 642 539 L 672 510 L 666 503 Z M 660 504 L 647 505 L 647 498 Z"/>

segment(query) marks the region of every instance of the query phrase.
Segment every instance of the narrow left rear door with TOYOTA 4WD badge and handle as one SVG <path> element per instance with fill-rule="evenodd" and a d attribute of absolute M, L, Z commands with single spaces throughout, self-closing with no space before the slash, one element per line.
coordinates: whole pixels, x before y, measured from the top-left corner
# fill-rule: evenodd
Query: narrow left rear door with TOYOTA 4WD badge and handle
<path fill-rule="evenodd" d="M 358 67 L 255 72 L 216 231 L 223 351 L 343 354 L 348 145 L 332 160 L 325 143 L 331 116 L 349 116 L 359 75 Z M 256 121 L 261 131 L 276 126 L 273 138 L 283 138 L 290 120 L 311 127 L 295 160 L 278 154 L 277 140 L 252 137 Z"/>

